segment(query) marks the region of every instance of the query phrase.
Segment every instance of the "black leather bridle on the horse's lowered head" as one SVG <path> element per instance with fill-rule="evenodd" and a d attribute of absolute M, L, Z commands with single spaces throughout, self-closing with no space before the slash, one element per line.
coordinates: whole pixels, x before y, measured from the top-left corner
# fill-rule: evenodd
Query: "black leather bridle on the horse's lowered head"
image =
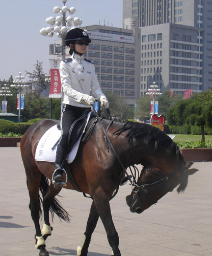
<path fill-rule="evenodd" d="M 129 168 L 130 168 L 130 167 L 129 167 Z M 133 168 L 134 168 L 134 173 L 139 172 L 139 171 L 138 171 L 138 168 L 137 168 L 136 166 L 133 166 Z M 133 174 L 133 172 L 132 172 L 132 170 L 131 170 L 131 168 L 130 168 L 130 172 L 131 172 L 131 174 L 132 174 L 132 176 L 133 176 L 133 179 L 134 179 L 134 181 L 131 183 L 131 185 L 132 185 L 132 191 L 133 191 L 133 199 L 132 199 L 132 201 L 131 201 L 131 204 L 129 205 L 130 208 L 135 205 L 139 191 L 141 191 L 141 193 L 143 193 L 146 197 L 150 198 L 151 201 L 152 201 L 154 204 L 156 204 L 156 203 L 157 203 L 157 200 L 156 200 L 155 198 L 153 198 L 151 195 L 149 195 L 149 192 L 150 192 L 150 191 L 149 191 L 148 189 L 146 189 L 146 187 L 147 187 L 147 186 L 156 186 L 156 185 L 162 184 L 162 183 L 168 181 L 169 179 L 171 179 L 173 176 L 176 176 L 176 174 L 178 174 L 178 173 L 180 172 L 180 170 L 177 170 L 177 171 L 175 171 L 175 172 L 173 172 L 173 173 L 167 175 L 167 174 L 163 174 L 163 173 L 154 172 L 153 170 L 148 169 L 148 168 L 146 168 L 146 167 L 143 166 L 143 169 L 141 170 L 141 174 L 140 174 L 140 175 L 142 175 L 142 172 L 144 172 L 144 170 L 146 170 L 147 172 L 156 174 L 156 175 L 161 175 L 161 176 L 163 176 L 163 178 L 160 179 L 160 180 L 157 180 L 157 181 L 155 181 L 155 182 L 152 182 L 152 183 L 146 183 L 146 184 L 138 185 L 138 180 L 139 180 L 139 178 L 138 178 L 138 180 L 136 181 L 136 179 L 135 179 L 136 175 Z"/>

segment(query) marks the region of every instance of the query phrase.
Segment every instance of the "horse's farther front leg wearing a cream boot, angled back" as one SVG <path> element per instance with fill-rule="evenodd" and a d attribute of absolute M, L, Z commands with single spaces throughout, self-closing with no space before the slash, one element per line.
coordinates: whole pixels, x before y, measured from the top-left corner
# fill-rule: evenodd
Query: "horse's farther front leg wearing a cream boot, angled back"
<path fill-rule="evenodd" d="M 78 256 L 87 256 L 88 247 L 91 241 L 92 233 L 96 227 L 99 215 L 96 210 L 96 205 L 94 201 L 91 204 L 90 214 L 87 221 L 86 231 L 83 235 L 83 239 L 81 244 L 77 247 L 77 255 Z"/>

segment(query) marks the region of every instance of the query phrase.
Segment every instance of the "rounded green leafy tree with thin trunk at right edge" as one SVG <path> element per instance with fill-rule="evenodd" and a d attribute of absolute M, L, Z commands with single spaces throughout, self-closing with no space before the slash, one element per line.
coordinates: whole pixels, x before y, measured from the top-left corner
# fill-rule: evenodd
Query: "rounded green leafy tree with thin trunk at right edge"
<path fill-rule="evenodd" d="M 202 140 L 205 141 L 204 126 L 212 125 L 212 102 L 196 96 L 193 99 L 180 100 L 167 112 L 170 125 L 198 125 L 201 127 Z"/>

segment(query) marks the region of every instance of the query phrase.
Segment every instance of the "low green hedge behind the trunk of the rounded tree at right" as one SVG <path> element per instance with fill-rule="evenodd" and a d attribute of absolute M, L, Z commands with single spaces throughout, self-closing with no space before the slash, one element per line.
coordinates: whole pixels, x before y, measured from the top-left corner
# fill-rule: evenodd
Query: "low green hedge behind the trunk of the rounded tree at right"
<path fill-rule="evenodd" d="M 201 127 L 197 125 L 168 125 L 165 124 L 164 132 L 167 134 L 192 134 L 192 135 L 201 135 Z M 205 126 L 204 127 L 205 135 L 212 135 L 212 128 Z"/>

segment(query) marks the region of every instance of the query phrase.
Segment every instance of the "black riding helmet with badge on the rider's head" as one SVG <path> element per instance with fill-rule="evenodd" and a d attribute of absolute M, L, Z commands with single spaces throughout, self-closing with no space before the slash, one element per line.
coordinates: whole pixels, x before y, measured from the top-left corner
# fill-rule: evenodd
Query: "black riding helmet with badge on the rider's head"
<path fill-rule="evenodd" d="M 88 33 L 80 28 L 74 28 L 68 31 L 65 37 L 65 44 L 69 46 L 71 42 L 75 40 L 85 40 L 87 42 L 91 42 L 91 39 L 88 36 Z"/>

